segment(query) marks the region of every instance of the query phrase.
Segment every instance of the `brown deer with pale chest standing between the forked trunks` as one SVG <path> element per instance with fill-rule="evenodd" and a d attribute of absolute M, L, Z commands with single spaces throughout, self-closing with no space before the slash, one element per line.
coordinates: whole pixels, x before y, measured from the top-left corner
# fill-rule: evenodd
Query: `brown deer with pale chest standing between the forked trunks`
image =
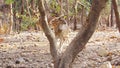
<path fill-rule="evenodd" d="M 64 19 L 57 19 L 50 23 L 53 27 L 56 39 L 59 41 L 59 50 L 63 50 L 63 43 L 69 42 L 69 32 L 70 29 L 67 25 L 67 22 Z"/>

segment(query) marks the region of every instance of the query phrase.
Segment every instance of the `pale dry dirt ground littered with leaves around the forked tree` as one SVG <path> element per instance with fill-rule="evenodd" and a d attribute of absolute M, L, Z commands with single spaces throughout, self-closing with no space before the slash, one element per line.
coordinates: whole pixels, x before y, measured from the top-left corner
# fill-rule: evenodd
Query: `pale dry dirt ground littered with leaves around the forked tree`
<path fill-rule="evenodd" d="M 71 32 L 69 40 L 76 33 Z M 0 68 L 53 68 L 49 43 L 42 32 L 22 32 L 0 38 L 4 39 L 0 42 Z M 99 68 L 104 62 L 120 68 L 120 33 L 116 29 L 96 30 L 78 54 L 73 68 Z"/>

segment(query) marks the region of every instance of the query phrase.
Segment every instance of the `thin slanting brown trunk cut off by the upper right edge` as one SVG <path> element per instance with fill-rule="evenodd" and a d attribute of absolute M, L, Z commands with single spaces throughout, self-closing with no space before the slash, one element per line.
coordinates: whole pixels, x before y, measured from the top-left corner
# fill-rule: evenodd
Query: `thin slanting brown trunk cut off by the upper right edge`
<path fill-rule="evenodd" d="M 120 18 L 119 18 L 119 11 L 118 11 L 116 0 L 112 0 L 112 3 L 113 3 L 113 9 L 115 12 L 115 17 L 116 17 L 116 25 L 117 25 L 118 30 L 120 32 Z"/>

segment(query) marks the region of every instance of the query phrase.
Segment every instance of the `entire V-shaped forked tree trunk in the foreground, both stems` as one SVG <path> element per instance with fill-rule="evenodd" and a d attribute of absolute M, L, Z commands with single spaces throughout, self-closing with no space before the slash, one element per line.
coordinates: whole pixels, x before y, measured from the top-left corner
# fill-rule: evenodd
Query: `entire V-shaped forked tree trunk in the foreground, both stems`
<path fill-rule="evenodd" d="M 50 42 L 50 52 L 54 60 L 54 68 L 72 68 L 72 62 L 75 57 L 80 51 L 82 51 L 94 33 L 100 12 L 105 7 L 107 0 L 93 0 L 92 9 L 86 23 L 83 25 L 77 36 L 72 40 L 63 54 L 57 53 L 55 35 L 48 26 L 43 1 L 44 0 L 38 0 L 39 12 L 42 20 L 40 25 L 42 26 L 43 31 Z"/>

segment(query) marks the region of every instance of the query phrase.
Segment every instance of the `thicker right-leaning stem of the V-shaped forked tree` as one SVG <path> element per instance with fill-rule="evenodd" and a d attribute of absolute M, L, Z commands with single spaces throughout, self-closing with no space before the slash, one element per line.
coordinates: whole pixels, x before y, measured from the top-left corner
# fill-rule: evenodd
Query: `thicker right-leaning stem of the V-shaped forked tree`
<path fill-rule="evenodd" d="M 105 7 L 107 0 L 93 0 L 92 8 L 85 25 L 79 31 L 77 36 L 70 43 L 64 52 L 58 68 L 71 68 L 76 55 L 82 51 L 86 43 L 95 31 L 96 24 L 101 10 Z"/>

